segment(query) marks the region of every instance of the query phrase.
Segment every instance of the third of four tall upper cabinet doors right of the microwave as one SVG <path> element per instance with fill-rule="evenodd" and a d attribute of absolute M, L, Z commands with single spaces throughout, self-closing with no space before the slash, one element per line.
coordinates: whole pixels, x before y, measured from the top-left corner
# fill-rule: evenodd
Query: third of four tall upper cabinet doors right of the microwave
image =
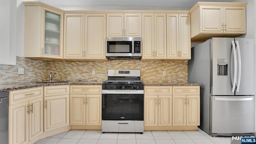
<path fill-rule="evenodd" d="M 179 59 L 179 16 L 167 14 L 167 58 Z"/>

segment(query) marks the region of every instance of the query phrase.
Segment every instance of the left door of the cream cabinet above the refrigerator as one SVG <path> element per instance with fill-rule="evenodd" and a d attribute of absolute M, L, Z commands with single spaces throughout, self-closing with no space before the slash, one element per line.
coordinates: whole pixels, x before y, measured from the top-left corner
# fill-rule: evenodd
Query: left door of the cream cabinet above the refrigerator
<path fill-rule="evenodd" d="M 202 32 L 223 32 L 223 7 L 202 6 Z"/>

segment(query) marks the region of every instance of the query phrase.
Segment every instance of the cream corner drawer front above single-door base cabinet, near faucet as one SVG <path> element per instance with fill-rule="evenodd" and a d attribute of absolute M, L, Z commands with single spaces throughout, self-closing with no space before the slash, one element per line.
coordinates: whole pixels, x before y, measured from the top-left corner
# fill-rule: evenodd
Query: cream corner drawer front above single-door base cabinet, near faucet
<path fill-rule="evenodd" d="M 69 94 L 69 85 L 44 87 L 44 96 L 58 96 L 64 94 Z"/>

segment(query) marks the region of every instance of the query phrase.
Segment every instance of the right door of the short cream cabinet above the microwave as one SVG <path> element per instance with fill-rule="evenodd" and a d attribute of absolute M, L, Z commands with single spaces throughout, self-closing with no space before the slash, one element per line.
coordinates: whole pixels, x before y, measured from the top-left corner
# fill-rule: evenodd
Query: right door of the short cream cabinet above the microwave
<path fill-rule="evenodd" d="M 124 36 L 141 37 L 141 14 L 124 14 Z"/>

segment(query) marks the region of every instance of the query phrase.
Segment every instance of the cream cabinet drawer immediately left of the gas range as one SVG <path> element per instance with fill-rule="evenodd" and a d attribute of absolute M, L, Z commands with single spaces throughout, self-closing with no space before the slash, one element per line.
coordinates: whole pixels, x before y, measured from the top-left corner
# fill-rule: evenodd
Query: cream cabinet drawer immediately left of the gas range
<path fill-rule="evenodd" d="M 72 85 L 70 94 L 101 94 L 101 85 Z"/>

